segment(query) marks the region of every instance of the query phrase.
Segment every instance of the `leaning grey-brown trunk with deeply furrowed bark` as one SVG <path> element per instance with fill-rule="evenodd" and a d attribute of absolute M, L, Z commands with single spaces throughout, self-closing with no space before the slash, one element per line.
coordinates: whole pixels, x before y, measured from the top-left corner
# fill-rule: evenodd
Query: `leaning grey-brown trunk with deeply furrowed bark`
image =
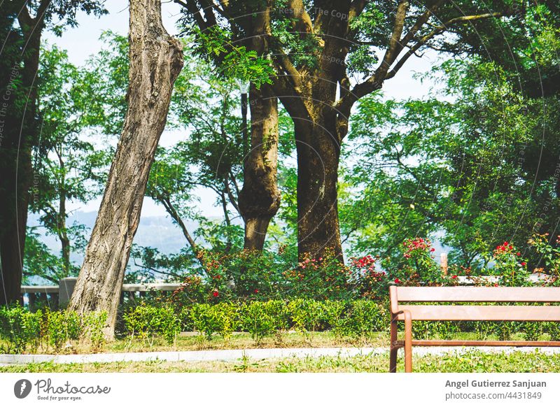
<path fill-rule="evenodd" d="M 183 67 L 179 41 L 162 24 L 160 0 L 130 0 L 130 85 L 123 134 L 69 308 L 106 310 L 113 338 L 125 268 L 155 149 Z"/>

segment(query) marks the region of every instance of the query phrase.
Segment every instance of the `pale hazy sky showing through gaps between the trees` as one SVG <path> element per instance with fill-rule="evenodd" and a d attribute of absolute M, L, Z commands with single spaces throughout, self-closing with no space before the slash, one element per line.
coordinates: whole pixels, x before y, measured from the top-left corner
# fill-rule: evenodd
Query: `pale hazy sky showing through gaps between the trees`
<path fill-rule="evenodd" d="M 46 33 L 44 38 L 50 44 L 56 44 L 59 48 L 67 50 L 69 60 L 73 64 L 84 64 L 87 57 L 99 52 L 102 48 L 102 43 L 99 41 L 99 36 L 102 31 L 111 30 L 119 34 L 126 35 L 128 31 L 128 2 L 124 0 L 111 0 L 107 1 L 106 8 L 109 10 L 108 15 L 97 18 L 85 13 L 78 15 L 79 26 L 74 29 L 68 29 L 62 34 L 62 37 L 57 37 L 51 33 Z M 170 34 L 176 34 L 176 20 L 179 17 L 180 6 L 176 3 L 165 2 L 162 3 L 162 17 L 167 31 Z M 434 52 L 426 52 L 421 58 L 414 57 L 407 61 L 407 64 L 402 67 L 395 78 L 388 80 L 384 84 L 384 92 L 393 99 L 408 99 L 410 97 L 421 98 L 426 97 L 430 93 L 430 87 L 433 83 L 414 78 L 414 73 L 424 73 L 430 69 L 430 66 L 435 63 L 436 57 Z M 188 69 L 185 66 L 183 69 Z M 180 131 L 164 131 L 161 138 L 161 145 L 169 145 L 175 143 L 183 135 Z M 207 216 L 221 216 L 222 210 L 219 207 L 214 207 L 214 194 L 200 190 L 199 194 L 200 210 L 203 215 Z M 97 211 L 101 199 L 97 199 L 88 203 L 87 205 L 75 205 L 71 210 L 77 209 L 84 212 Z M 162 206 L 158 206 L 151 199 L 145 199 L 142 209 L 143 216 L 160 216 L 165 215 L 165 210 Z"/>

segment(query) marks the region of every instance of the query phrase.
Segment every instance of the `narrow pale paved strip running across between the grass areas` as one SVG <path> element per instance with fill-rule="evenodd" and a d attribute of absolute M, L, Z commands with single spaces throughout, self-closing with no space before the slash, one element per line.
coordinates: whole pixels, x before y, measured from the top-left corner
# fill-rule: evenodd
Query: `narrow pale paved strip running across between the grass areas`
<path fill-rule="evenodd" d="M 442 355 L 463 353 L 470 349 L 481 352 L 533 352 L 537 348 L 477 347 L 477 348 L 414 348 L 414 355 Z M 560 348 L 539 348 L 543 353 L 558 353 Z M 402 350 L 400 350 L 402 352 Z M 190 350 L 182 352 L 127 352 L 94 353 L 89 355 L 0 355 L 0 366 L 28 363 L 109 363 L 148 362 L 165 360 L 169 362 L 236 361 L 242 357 L 250 359 L 275 359 L 282 357 L 351 357 L 356 355 L 379 355 L 388 353 L 388 348 L 276 348 L 276 349 L 232 349 L 232 350 Z"/>

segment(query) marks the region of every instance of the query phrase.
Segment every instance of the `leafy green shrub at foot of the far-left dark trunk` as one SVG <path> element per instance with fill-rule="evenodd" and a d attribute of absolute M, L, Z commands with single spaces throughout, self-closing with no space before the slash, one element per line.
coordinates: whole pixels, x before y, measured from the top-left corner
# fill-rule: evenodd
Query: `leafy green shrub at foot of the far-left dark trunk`
<path fill-rule="evenodd" d="M 2 353 L 22 353 L 36 350 L 41 341 L 41 311 L 30 313 L 20 305 L 0 308 L 0 338 Z"/>

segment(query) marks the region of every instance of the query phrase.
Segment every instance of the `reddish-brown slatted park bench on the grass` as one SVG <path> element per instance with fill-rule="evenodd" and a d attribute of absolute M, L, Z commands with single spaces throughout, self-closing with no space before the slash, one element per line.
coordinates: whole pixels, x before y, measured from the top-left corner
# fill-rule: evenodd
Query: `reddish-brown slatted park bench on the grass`
<path fill-rule="evenodd" d="M 389 372 L 397 370 L 397 351 L 405 348 L 405 371 L 412 372 L 412 346 L 560 346 L 560 341 L 418 341 L 412 321 L 560 321 L 556 287 L 389 287 L 391 355 Z M 409 303 L 543 303 L 518 305 L 411 305 Z M 397 322 L 405 322 L 405 340 L 397 340 Z"/>

